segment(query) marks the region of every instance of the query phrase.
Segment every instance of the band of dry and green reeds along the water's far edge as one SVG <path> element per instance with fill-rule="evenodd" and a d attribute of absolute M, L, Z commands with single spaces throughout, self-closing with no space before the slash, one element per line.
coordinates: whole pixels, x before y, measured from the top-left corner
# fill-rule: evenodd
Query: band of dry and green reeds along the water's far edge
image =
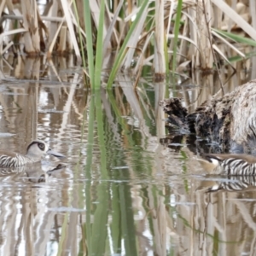
<path fill-rule="evenodd" d="M 255 12 L 254 1 L 235 0 L 3 0 L 0 56 L 72 53 L 93 89 L 112 88 L 119 72 L 137 81 L 148 67 L 156 81 L 195 69 L 236 71 L 234 61 L 254 54 Z"/>

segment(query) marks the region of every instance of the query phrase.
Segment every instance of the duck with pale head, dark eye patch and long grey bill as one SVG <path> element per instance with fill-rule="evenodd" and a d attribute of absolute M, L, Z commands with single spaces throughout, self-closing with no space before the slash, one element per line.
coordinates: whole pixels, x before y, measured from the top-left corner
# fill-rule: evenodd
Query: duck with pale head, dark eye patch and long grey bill
<path fill-rule="evenodd" d="M 26 154 L 0 151 L 0 167 L 19 167 L 36 163 L 42 160 L 44 154 L 52 154 L 60 158 L 64 157 L 63 154 L 51 150 L 43 141 L 35 140 L 27 146 Z"/>

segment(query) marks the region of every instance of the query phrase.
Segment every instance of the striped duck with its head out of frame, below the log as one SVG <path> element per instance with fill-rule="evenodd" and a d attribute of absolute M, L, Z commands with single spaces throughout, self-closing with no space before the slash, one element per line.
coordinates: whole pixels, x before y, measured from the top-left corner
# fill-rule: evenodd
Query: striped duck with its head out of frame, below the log
<path fill-rule="evenodd" d="M 203 154 L 214 174 L 256 175 L 256 157 L 249 154 Z"/>

